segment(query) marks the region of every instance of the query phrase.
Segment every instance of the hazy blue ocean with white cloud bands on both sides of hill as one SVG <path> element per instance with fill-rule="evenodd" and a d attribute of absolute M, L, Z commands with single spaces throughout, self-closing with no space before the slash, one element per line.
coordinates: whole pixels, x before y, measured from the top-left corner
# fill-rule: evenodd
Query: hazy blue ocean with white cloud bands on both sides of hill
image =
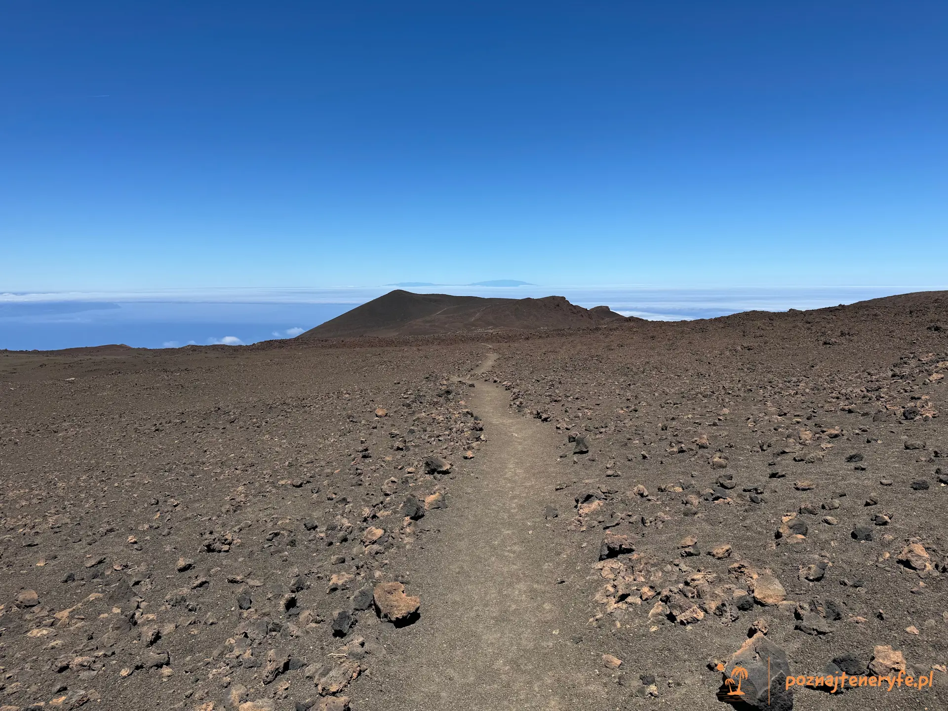
<path fill-rule="evenodd" d="M 52 350 L 105 343 L 176 348 L 294 337 L 392 286 L 177 289 L 0 294 L 0 349 Z M 605 304 L 642 319 L 710 319 L 738 311 L 786 311 L 924 291 L 922 286 L 650 288 L 635 286 L 413 287 L 418 293 L 483 297 L 556 294 L 587 308 Z M 944 288 L 944 287 L 941 287 Z"/>

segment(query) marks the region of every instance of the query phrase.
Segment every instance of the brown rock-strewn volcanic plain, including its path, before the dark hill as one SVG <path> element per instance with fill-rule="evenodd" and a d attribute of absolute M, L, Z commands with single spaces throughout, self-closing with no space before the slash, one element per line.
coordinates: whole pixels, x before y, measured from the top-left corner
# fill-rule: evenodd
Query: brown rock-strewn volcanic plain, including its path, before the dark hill
<path fill-rule="evenodd" d="M 0 352 L 0 708 L 943 708 L 946 317 Z"/>

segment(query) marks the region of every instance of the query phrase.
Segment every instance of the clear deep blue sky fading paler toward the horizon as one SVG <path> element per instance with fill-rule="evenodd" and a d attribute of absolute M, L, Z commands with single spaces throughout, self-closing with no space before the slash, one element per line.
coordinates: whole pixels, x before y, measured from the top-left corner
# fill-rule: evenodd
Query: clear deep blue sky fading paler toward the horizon
<path fill-rule="evenodd" d="M 942 285 L 946 37 L 943 0 L 0 0 L 0 291 Z"/>

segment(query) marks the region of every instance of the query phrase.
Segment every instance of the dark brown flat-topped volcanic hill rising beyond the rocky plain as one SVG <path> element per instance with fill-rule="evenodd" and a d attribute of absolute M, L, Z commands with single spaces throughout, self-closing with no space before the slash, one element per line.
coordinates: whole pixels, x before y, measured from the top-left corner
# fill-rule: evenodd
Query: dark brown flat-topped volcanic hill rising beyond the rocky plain
<path fill-rule="evenodd" d="M 608 306 L 585 309 L 563 297 L 483 299 L 396 289 L 299 336 L 430 336 L 456 332 L 578 328 L 629 320 Z"/>

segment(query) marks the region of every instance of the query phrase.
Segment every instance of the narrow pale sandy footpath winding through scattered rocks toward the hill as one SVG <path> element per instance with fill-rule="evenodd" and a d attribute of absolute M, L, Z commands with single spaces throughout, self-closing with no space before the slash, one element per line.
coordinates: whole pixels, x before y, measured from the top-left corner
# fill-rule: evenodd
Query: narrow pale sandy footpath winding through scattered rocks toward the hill
<path fill-rule="evenodd" d="M 564 520 L 544 519 L 547 505 L 570 516 L 555 492 L 556 434 L 511 411 L 497 386 L 477 382 L 467 401 L 487 443 L 450 483 L 440 533 L 410 561 L 422 617 L 392 630 L 379 684 L 359 708 L 602 711 L 601 662 L 582 641 L 589 561 L 556 534 Z"/>

